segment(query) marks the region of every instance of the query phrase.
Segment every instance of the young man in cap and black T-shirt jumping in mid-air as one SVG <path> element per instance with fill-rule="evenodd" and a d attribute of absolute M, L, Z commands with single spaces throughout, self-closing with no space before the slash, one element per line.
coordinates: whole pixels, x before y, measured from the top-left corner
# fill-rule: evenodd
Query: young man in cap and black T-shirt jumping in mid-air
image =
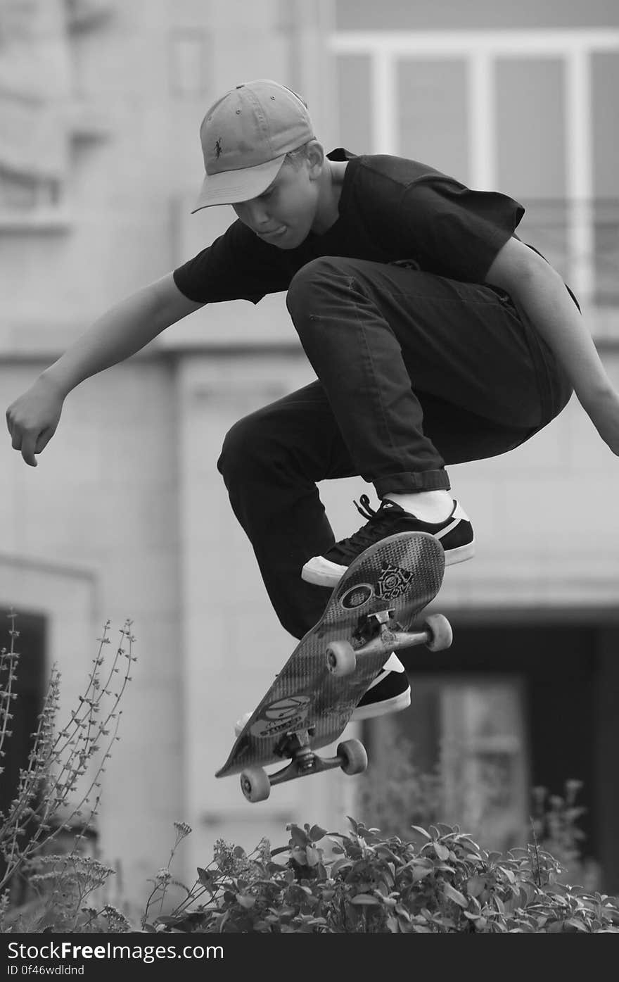
<path fill-rule="evenodd" d="M 35 465 L 63 401 L 204 303 L 286 291 L 317 380 L 239 420 L 218 466 L 282 624 L 301 637 L 348 564 L 402 530 L 438 537 L 447 564 L 474 552 L 445 464 L 528 440 L 572 390 L 619 454 L 619 397 L 559 275 L 515 235 L 524 214 L 413 160 L 325 155 L 303 100 L 238 85 L 200 128 L 195 209 L 232 204 L 211 246 L 103 315 L 7 411 Z M 360 475 L 380 507 L 335 536 L 316 482 Z M 391 656 L 356 718 L 404 708 Z"/>

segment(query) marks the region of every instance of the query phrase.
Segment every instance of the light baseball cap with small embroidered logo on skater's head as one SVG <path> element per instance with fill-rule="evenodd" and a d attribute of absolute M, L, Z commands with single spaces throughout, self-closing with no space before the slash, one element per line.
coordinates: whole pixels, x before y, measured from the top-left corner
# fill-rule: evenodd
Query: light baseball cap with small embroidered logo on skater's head
<path fill-rule="evenodd" d="M 231 88 L 200 125 L 206 177 L 191 214 L 262 194 L 286 153 L 313 138 L 307 105 L 292 89 L 271 79 Z"/>

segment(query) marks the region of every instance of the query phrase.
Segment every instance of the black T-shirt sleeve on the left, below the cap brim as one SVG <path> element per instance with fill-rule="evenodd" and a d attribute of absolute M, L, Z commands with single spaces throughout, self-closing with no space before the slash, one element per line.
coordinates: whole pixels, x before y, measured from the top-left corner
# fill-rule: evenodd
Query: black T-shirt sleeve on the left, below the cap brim
<path fill-rule="evenodd" d="M 217 303 L 250 300 L 285 290 L 287 280 L 274 262 L 272 249 L 240 221 L 210 246 L 173 272 L 174 281 L 188 300 Z"/>

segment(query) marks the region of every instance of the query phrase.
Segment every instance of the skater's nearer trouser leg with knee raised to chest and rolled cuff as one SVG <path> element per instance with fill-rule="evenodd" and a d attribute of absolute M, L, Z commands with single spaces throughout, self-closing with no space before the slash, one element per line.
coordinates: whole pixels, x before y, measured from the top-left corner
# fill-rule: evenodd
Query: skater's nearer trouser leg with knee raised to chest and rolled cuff
<path fill-rule="evenodd" d="M 490 288 L 330 257 L 296 274 L 287 305 L 351 460 L 380 496 L 449 487 L 420 393 L 529 433 L 569 398 L 541 340 Z M 470 459 L 487 456 L 472 437 Z"/>

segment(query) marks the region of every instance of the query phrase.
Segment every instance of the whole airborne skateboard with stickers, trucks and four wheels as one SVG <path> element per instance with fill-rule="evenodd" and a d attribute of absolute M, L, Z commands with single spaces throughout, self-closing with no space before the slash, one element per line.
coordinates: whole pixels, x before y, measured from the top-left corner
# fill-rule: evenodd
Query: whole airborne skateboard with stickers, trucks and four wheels
<path fill-rule="evenodd" d="M 263 801 L 274 785 L 340 767 L 359 774 L 368 763 L 357 739 L 344 740 L 335 757 L 318 749 L 335 741 L 392 651 L 451 644 L 441 614 L 413 629 L 417 615 L 437 595 L 444 552 L 427 532 L 401 532 L 358 556 L 335 586 L 320 621 L 301 638 L 236 737 L 216 772 L 240 774 L 248 801 Z M 265 767 L 287 760 L 268 774 Z"/>

